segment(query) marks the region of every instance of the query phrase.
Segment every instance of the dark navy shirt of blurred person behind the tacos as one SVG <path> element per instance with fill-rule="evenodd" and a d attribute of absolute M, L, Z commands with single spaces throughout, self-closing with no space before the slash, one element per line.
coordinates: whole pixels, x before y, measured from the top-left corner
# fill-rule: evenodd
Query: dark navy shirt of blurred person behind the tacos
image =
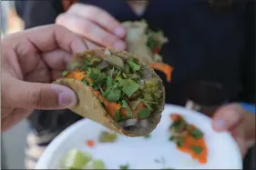
<path fill-rule="evenodd" d="M 230 102 L 255 104 L 255 2 L 216 8 L 207 1 L 151 0 L 139 17 L 120 0 L 80 3 L 97 5 L 120 22 L 143 18 L 151 29 L 163 30 L 169 43 L 161 55 L 175 68 L 170 84 L 158 72 L 166 87 L 167 103 L 184 105 L 188 85 L 207 81 L 223 85 Z M 26 28 L 52 24 L 63 12 L 60 1 L 16 1 L 16 6 Z M 30 117 L 34 126 L 53 130 L 46 119 L 62 126 L 80 118 L 68 110 L 55 111 L 57 115 L 45 112 L 53 111 L 36 111 Z"/>

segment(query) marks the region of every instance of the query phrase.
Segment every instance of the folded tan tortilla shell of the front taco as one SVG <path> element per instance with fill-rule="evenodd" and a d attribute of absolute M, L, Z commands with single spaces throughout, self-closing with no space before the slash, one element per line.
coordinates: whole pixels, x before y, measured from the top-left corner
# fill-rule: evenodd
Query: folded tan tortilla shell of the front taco
<path fill-rule="evenodd" d="M 161 79 L 154 72 L 153 69 L 149 68 L 148 65 L 143 63 L 140 59 L 138 59 L 137 56 L 131 55 L 125 51 L 118 51 L 116 49 L 110 49 L 110 48 L 97 48 L 97 49 L 88 50 L 82 54 L 75 55 L 73 61 L 70 62 L 70 64 L 67 66 L 68 67 L 67 72 L 71 73 L 72 71 L 81 70 L 84 65 L 83 62 L 86 61 L 87 58 L 90 58 L 90 61 L 93 61 L 93 60 L 96 61 L 98 59 L 98 56 L 100 57 L 102 56 L 102 61 L 97 64 L 97 68 L 102 70 L 105 69 L 105 72 L 110 74 L 111 74 L 111 71 L 109 70 L 117 70 L 118 74 L 121 73 L 119 75 L 118 74 L 115 75 L 116 77 L 113 77 L 113 79 L 114 78 L 118 79 L 119 77 L 122 77 L 123 79 L 125 79 L 123 75 L 128 76 L 128 75 L 125 75 L 124 71 L 122 71 L 122 69 L 124 69 L 123 65 L 120 65 L 120 63 L 118 64 L 117 61 L 121 59 L 125 65 L 128 64 L 127 63 L 128 61 L 131 61 L 131 60 L 136 61 L 137 71 L 134 71 L 133 75 L 138 74 L 139 72 L 138 68 L 141 69 L 141 72 L 139 72 L 139 74 L 141 74 L 140 82 L 142 82 L 142 84 L 140 84 L 139 90 L 143 92 L 143 89 L 146 90 L 149 88 L 147 84 L 145 84 L 145 82 L 154 80 L 154 82 L 156 83 L 157 81 L 157 84 L 154 84 L 155 86 L 153 84 L 152 84 L 153 86 L 148 84 L 150 88 L 153 87 L 152 89 L 157 88 L 157 91 L 154 94 L 158 94 L 158 95 L 151 94 L 152 96 L 154 95 L 154 97 L 156 96 L 158 97 L 158 99 L 156 99 L 157 103 L 152 104 L 148 102 L 148 104 L 150 104 L 148 105 L 146 104 L 147 102 L 145 102 L 146 100 L 144 100 L 143 97 L 142 99 L 139 98 L 142 95 L 137 96 L 137 99 L 139 98 L 138 102 L 144 101 L 144 103 L 141 102 L 142 105 L 145 104 L 143 107 L 144 110 L 151 109 L 150 115 L 148 115 L 148 117 L 138 119 L 138 115 L 142 113 L 140 112 L 141 110 L 138 111 L 138 107 L 136 108 L 136 104 L 134 104 L 135 102 L 133 102 L 134 105 L 131 106 L 132 102 L 129 101 L 128 95 L 123 94 L 123 96 L 119 97 L 118 99 L 117 105 L 120 104 L 121 107 L 118 110 L 118 114 L 116 114 L 118 116 L 122 116 L 123 120 L 120 121 L 121 118 L 119 117 L 117 121 L 116 117 L 114 117 L 113 114 L 109 115 L 110 112 L 108 112 L 110 108 L 110 107 L 108 108 L 108 105 L 111 102 L 109 103 L 109 101 L 106 101 L 106 98 L 103 97 L 103 95 L 106 94 L 108 85 L 107 85 L 107 89 L 101 89 L 101 95 L 98 95 L 99 90 L 98 89 L 96 90 L 95 86 L 93 86 L 92 84 L 88 85 L 88 82 L 91 83 L 91 81 L 85 82 L 85 80 L 87 80 L 86 78 L 87 75 L 84 76 L 84 78 L 82 79 L 81 77 L 76 78 L 76 76 L 70 77 L 70 74 L 68 75 L 68 73 L 66 73 L 66 75 L 64 75 L 63 78 L 56 80 L 55 84 L 66 85 L 69 88 L 71 88 L 74 92 L 76 92 L 78 102 L 76 106 L 71 108 L 71 110 L 77 113 L 78 115 L 81 115 L 101 125 L 106 126 L 108 129 L 118 134 L 128 135 L 128 136 L 148 135 L 159 124 L 161 113 L 164 108 L 165 89 L 164 89 L 164 86 L 162 85 Z M 106 62 L 108 63 L 108 67 L 106 68 L 106 65 L 105 65 L 105 68 L 104 68 L 103 63 L 106 64 Z M 81 66 L 81 64 L 83 65 Z M 80 72 L 78 74 L 80 74 Z M 133 75 L 130 75 L 130 76 L 133 76 Z M 97 76 L 95 76 L 94 78 L 97 79 Z M 121 78 L 120 80 L 118 80 L 117 85 L 121 85 L 121 83 L 124 82 L 124 81 L 121 82 L 121 80 L 122 80 Z M 102 85 L 102 86 L 106 88 L 106 85 Z M 124 88 L 124 85 L 121 86 L 121 88 Z M 144 92 L 143 94 L 148 95 L 147 93 L 145 94 Z M 129 95 L 130 98 L 132 97 L 136 98 L 135 93 L 133 93 L 133 95 L 134 96 Z M 108 98 L 111 98 L 111 97 L 109 97 L 108 95 Z M 119 101 L 122 101 L 122 103 Z M 126 103 L 125 101 L 128 101 L 128 102 Z M 113 104 L 113 102 L 111 104 Z M 128 104 L 128 105 L 124 106 L 124 104 Z M 128 112 L 126 112 L 128 111 L 127 110 L 128 108 L 129 108 L 129 111 L 130 109 L 132 110 L 132 115 L 129 115 L 129 116 L 133 116 L 133 117 L 130 119 L 128 118 Z M 126 116 L 123 115 L 123 111 L 125 112 Z M 137 115 L 134 113 L 136 113 Z"/>

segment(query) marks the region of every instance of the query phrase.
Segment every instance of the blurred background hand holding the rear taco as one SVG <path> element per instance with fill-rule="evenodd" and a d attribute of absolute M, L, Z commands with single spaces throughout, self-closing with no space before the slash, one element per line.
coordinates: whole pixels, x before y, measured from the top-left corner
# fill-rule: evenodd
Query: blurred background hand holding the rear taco
<path fill-rule="evenodd" d="M 74 4 L 66 13 L 58 15 L 57 25 L 63 25 L 77 35 L 83 36 L 89 48 L 97 45 L 114 47 L 120 50 L 126 48 L 125 29 L 108 12 L 94 5 Z"/>

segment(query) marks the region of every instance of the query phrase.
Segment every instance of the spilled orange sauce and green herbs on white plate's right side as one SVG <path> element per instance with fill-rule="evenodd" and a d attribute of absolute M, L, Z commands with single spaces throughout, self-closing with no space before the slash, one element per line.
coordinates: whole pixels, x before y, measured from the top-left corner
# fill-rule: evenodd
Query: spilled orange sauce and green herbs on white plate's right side
<path fill-rule="evenodd" d="M 189 125 L 181 115 L 171 114 L 170 118 L 172 124 L 169 126 L 169 140 L 175 142 L 180 151 L 188 153 L 201 164 L 206 164 L 207 145 L 200 129 L 195 125 Z"/>

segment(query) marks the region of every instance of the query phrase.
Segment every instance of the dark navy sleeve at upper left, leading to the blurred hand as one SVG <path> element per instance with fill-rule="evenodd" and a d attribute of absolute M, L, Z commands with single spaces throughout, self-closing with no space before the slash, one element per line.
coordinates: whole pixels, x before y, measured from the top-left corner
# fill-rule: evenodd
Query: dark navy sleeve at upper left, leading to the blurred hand
<path fill-rule="evenodd" d="M 54 24 L 56 16 L 64 12 L 61 1 L 15 1 L 15 8 L 26 29 Z"/>

